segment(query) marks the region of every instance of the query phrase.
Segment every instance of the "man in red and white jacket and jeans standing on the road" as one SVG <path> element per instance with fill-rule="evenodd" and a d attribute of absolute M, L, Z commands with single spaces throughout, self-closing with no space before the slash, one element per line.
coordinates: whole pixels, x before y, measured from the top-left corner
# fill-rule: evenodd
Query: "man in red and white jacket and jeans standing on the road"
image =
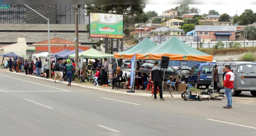
<path fill-rule="evenodd" d="M 234 73 L 232 72 L 232 70 L 230 70 L 230 66 L 225 66 L 225 72 L 226 75 L 224 77 L 224 81 L 223 81 L 223 86 L 224 86 L 224 91 L 225 91 L 225 95 L 227 97 L 228 100 L 228 104 L 227 106 L 224 106 L 223 108 L 232 108 L 232 89 L 234 87 Z"/>

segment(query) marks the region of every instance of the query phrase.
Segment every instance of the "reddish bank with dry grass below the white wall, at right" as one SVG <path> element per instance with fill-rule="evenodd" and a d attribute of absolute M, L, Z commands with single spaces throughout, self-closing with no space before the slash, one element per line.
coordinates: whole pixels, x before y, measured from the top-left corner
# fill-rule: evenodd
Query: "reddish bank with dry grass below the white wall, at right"
<path fill-rule="evenodd" d="M 210 54 L 210 55 L 217 55 L 217 54 L 227 54 L 227 53 L 233 53 L 236 54 L 242 54 L 246 52 L 256 52 L 256 47 L 236 47 L 236 48 L 199 48 L 200 51 Z"/>

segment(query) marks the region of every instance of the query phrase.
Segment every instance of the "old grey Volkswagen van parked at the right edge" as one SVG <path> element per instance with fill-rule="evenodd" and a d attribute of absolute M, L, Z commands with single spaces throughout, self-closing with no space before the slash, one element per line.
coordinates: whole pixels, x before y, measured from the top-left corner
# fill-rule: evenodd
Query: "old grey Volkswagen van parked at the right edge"
<path fill-rule="evenodd" d="M 223 68 L 226 65 L 231 67 L 235 75 L 232 96 L 241 94 L 242 91 L 250 91 L 252 96 L 256 96 L 256 63 L 242 61 L 218 61 L 215 64 L 219 67 L 218 91 L 223 88 Z"/>

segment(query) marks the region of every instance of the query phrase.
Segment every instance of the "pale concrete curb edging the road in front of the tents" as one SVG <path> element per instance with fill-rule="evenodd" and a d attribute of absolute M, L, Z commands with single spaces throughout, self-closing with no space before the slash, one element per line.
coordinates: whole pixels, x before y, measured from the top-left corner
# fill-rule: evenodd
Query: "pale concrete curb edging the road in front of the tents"
<path fill-rule="evenodd" d="M 24 75 L 27 77 L 32 77 L 32 78 L 38 78 L 38 79 L 43 79 L 43 80 L 48 80 L 48 81 L 53 81 L 52 79 L 45 79 L 45 78 L 41 78 L 41 77 L 35 77 L 35 76 L 30 76 L 30 75 L 25 75 L 25 74 L 21 74 L 21 73 L 15 73 L 15 72 L 10 72 L 10 71 L 6 71 L 8 73 L 13 73 L 13 74 L 19 74 L 19 75 Z M 60 81 L 57 81 L 61 83 Z M 68 84 L 68 82 L 62 82 L 63 84 Z M 80 86 L 80 87 L 84 87 L 84 88 L 90 88 L 90 89 L 95 89 L 95 90 L 101 90 L 101 91 L 106 91 L 106 92 L 113 92 L 116 94 L 126 94 L 126 95 L 130 95 L 130 96 L 143 96 L 143 97 L 151 97 L 152 94 L 142 94 L 142 93 L 129 93 L 129 92 L 121 92 L 121 91 L 114 91 L 114 90 L 109 90 L 109 89 L 102 89 L 102 88 L 96 88 L 96 87 L 91 87 L 91 86 L 84 86 L 84 85 L 80 85 L 80 84 L 72 84 L 73 86 Z M 173 98 L 181 98 L 181 95 L 172 95 Z M 164 98 L 172 98 L 171 95 L 163 95 Z"/>

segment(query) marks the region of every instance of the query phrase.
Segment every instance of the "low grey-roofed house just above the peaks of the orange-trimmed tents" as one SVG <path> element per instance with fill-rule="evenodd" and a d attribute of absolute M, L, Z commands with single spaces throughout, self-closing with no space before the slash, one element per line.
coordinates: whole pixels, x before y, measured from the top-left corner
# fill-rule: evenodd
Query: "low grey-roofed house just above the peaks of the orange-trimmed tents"
<path fill-rule="evenodd" d="M 169 29 L 166 27 L 160 27 L 158 29 L 150 31 L 148 34 L 149 35 L 183 35 L 184 30 L 179 29 L 179 28 L 173 28 Z M 170 32 L 170 34 L 169 34 Z"/>

